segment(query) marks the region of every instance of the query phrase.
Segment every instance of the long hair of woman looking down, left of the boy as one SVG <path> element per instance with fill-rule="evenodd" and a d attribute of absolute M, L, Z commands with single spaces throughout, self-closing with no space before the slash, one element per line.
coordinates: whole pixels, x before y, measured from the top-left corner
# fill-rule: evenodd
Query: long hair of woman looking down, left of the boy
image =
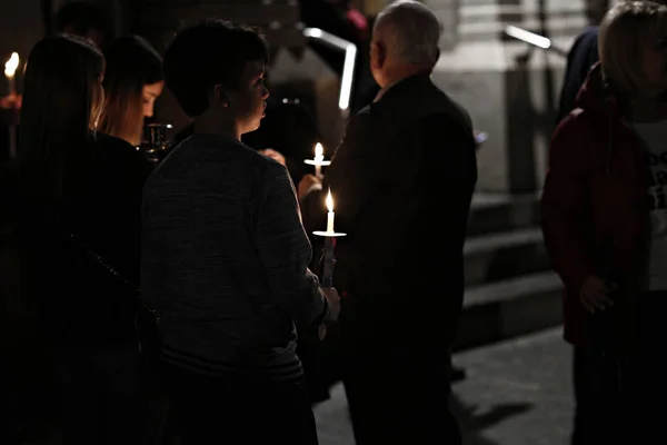
<path fill-rule="evenodd" d="M 104 109 L 99 130 L 137 146 L 141 142 L 145 102 L 156 97 L 145 97 L 145 87 L 163 80 L 162 58 L 151 44 L 138 36 L 116 39 L 104 50 Z M 161 91 L 161 86 L 159 88 Z"/>

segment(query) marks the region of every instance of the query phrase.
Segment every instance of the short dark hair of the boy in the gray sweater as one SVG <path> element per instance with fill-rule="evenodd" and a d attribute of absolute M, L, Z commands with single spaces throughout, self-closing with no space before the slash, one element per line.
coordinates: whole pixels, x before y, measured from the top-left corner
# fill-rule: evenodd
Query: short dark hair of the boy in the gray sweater
<path fill-rule="evenodd" d="M 249 61 L 267 63 L 269 50 L 253 28 L 225 20 L 206 20 L 177 33 L 165 52 L 165 80 L 190 117 L 208 108 L 216 85 L 238 88 Z"/>

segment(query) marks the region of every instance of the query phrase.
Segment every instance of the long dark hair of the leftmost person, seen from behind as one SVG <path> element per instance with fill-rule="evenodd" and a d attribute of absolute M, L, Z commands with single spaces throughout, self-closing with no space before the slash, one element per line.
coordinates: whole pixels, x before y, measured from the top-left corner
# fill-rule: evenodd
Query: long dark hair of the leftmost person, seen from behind
<path fill-rule="evenodd" d="M 72 36 L 40 40 L 23 76 L 19 167 L 28 192 L 59 201 L 90 158 L 103 91 L 104 58 Z"/>

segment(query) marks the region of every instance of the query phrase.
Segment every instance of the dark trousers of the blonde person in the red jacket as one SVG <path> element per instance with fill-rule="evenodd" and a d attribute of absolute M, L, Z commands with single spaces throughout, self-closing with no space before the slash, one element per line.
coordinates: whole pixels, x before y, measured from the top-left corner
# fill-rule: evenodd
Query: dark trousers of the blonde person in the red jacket
<path fill-rule="evenodd" d="M 639 297 L 639 342 L 630 354 L 575 347 L 573 445 L 660 443 L 667 421 L 666 297 Z"/>

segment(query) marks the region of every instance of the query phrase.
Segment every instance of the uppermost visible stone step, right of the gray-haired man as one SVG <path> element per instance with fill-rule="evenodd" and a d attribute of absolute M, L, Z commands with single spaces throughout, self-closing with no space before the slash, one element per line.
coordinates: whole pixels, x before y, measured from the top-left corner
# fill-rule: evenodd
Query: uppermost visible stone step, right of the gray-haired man
<path fill-rule="evenodd" d="M 468 237 L 508 233 L 539 224 L 539 195 L 476 192 L 468 219 Z"/>

